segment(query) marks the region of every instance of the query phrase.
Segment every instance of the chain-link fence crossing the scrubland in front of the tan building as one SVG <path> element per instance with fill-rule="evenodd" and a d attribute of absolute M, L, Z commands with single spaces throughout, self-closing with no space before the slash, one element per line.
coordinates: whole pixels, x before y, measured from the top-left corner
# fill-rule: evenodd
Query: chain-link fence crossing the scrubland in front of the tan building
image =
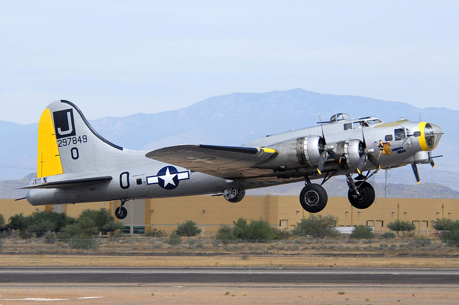
<path fill-rule="evenodd" d="M 459 255 L 459 241 L 439 239 L 215 240 L 120 237 L 0 240 L 0 253 L 157 255 Z"/>

